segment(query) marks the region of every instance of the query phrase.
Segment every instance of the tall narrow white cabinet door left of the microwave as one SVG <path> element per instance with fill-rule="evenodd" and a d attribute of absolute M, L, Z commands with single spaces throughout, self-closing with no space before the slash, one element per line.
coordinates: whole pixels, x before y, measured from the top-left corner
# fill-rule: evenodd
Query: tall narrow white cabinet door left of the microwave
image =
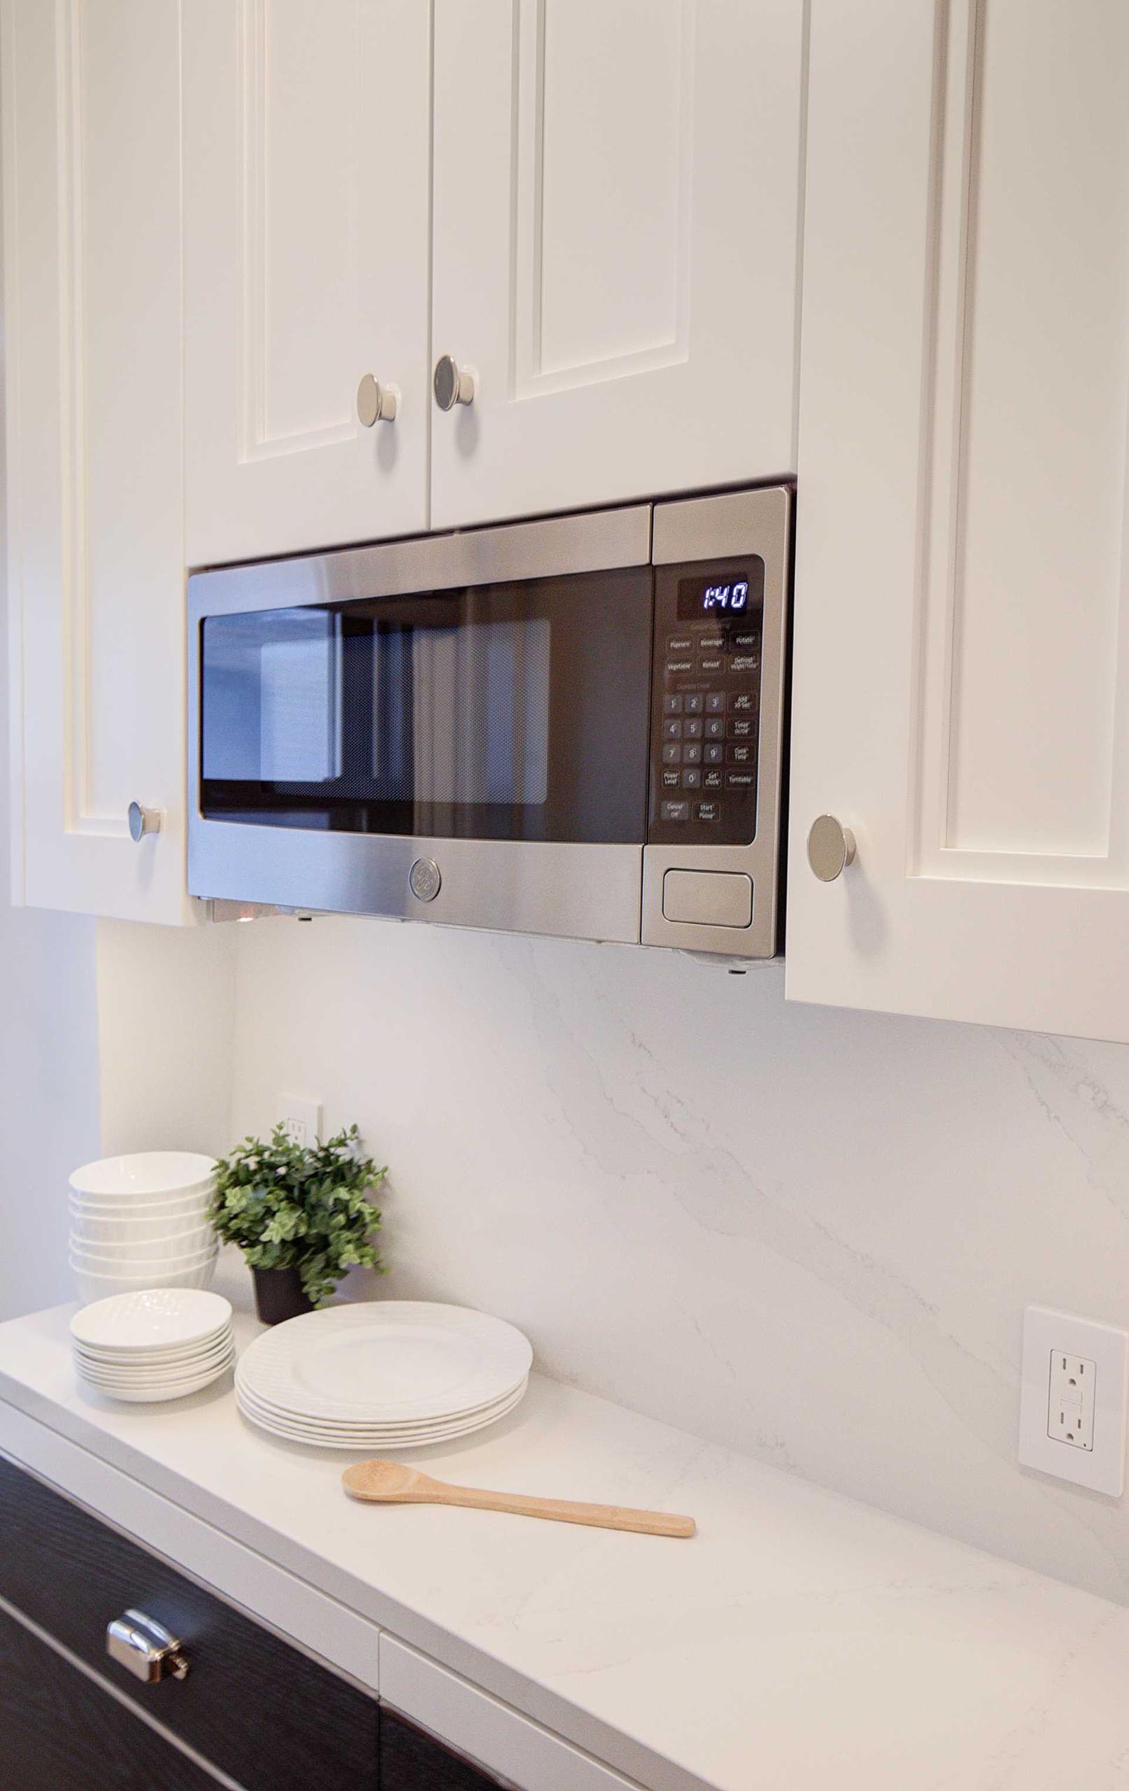
<path fill-rule="evenodd" d="M 13 894 L 179 921 L 179 5 L 2 23 Z"/>

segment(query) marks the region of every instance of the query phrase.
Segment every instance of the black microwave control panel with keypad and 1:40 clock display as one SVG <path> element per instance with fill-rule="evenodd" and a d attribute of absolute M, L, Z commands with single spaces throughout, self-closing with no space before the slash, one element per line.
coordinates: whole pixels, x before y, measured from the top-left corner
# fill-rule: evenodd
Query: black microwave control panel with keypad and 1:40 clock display
<path fill-rule="evenodd" d="M 649 844 L 756 838 L 763 602 L 758 555 L 656 570 Z"/>

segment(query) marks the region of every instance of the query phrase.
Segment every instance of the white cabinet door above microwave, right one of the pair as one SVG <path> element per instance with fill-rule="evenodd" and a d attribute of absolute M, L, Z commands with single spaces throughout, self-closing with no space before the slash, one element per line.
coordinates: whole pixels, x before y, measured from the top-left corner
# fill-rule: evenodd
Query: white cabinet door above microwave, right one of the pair
<path fill-rule="evenodd" d="M 435 0 L 435 527 L 794 469 L 799 0 Z"/>

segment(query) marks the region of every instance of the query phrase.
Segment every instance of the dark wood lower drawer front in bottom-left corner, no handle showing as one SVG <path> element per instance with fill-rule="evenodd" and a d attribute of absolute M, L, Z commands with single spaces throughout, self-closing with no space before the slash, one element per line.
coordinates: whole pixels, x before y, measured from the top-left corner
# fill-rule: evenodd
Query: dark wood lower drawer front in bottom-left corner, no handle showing
<path fill-rule="evenodd" d="M 4 1791 L 217 1791 L 217 1780 L 0 1610 Z"/>

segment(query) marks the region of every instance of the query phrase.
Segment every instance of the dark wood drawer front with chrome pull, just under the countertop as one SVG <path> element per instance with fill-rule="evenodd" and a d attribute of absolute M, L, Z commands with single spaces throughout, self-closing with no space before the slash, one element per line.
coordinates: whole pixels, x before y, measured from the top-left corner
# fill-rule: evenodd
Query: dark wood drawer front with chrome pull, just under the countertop
<path fill-rule="evenodd" d="M 4 1458 L 0 1594 L 247 1791 L 376 1791 L 375 1698 Z M 106 1624 L 131 1607 L 181 1639 L 188 1678 L 109 1660 Z"/>

